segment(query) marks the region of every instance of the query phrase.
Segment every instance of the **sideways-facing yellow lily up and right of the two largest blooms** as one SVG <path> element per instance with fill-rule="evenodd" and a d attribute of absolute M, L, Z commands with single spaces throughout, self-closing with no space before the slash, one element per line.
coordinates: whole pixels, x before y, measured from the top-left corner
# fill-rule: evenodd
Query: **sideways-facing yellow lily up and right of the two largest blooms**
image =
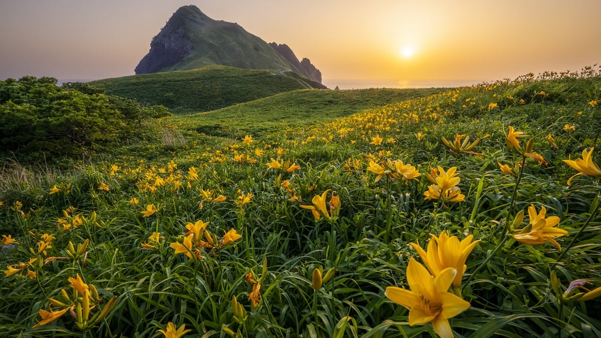
<path fill-rule="evenodd" d="M 538 245 L 543 244 L 547 241 L 553 243 L 559 250 L 561 250 L 560 244 L 555 241 L 555 237 L 566 236 L 567 231 L 555 227 L 560 223 L 560 218 L 557 216 L 551 216 L 545 218 L 547 209 L 543 206 L 540 212 L 537 214 L 534 204 L 528 207 L 528 216 L 530 218 L 529 225 L 520 231 L 520 233 L 514 233 L 511 235 L 516 241 L 522 244 Z M 515 224 L 522 223 L 523 211 L 516 216 Z"/>

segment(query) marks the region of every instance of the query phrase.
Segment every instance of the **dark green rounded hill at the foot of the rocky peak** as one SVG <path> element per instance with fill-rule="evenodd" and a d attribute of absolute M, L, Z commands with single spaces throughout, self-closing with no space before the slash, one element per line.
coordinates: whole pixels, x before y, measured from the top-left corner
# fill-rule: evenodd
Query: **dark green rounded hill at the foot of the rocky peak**
<path fill-rule="evenodd" d="M 325 88 L 292 72 L 207 66 L 90 82 L 107 94 L 164 105 L 174 112 L 209 111 L 283 91 Z"/>

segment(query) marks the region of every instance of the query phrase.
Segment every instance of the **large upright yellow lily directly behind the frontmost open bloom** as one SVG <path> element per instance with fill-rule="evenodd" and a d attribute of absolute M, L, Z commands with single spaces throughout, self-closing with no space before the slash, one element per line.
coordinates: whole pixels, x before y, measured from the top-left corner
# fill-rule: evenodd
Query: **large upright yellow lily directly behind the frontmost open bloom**
<path fill-rule="evenodd" d="M 472 242 L 474 235 L 469 235 L 460 242 L 457 236 L 448 236 L 447 232 L 442 232 L 439 237 L 435 235 L 430 236 L 432 238 L 428 244 L 427 251 L 424 251 L 419 244 L 409 244 L 418 252 L 426 268 L 428 268 L 430 274 L 434 277 L 438 276 L 446 268 L 456 269 L 457 274 L 453 279 L 453 286 L 459 288 L 467 267 L 465 260 L 480 240 Z"/>

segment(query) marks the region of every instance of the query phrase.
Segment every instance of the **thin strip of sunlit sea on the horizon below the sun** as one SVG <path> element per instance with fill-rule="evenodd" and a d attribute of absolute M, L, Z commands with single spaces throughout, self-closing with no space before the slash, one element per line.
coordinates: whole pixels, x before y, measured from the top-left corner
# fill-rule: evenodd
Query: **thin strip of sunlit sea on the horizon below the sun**
<path fill-rule="evenodd" d="M 363 88 L 441 88 L 464 87 L 479 84 L 484 80 L 377 80 L 377 79 L 323 79 L 322 83 L 330 89 Z"/>

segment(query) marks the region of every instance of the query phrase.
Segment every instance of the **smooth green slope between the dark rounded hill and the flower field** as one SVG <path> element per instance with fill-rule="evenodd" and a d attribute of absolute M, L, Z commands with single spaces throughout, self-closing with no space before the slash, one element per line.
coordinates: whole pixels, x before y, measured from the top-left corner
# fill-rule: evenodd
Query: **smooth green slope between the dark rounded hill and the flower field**
<path fill-rule="evenodd" d="M 375 106 L 429 96 L 442 88 L 361 90 L 297 90 L 215 111 L 174 118 L 184 129 L 206 135 L 240 138 L 285 127 L 323 123 Z"/>

